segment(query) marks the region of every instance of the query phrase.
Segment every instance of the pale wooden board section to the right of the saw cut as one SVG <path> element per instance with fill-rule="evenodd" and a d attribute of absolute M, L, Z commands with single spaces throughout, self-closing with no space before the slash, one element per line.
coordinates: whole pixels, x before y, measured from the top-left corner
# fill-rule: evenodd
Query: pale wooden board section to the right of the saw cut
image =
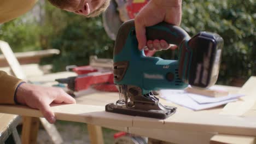
<path fill-rule="evenodd" d="M 220 120 L 221 119 L 221 120 Z M 177 112 L 160 123 L 157 119 L 136 117 L 133 127 L 150 127 L 171 130 L 217 132 L 220 134 L 251 135 L 256 132 L 256 118 L 223 116 L 211 113 Z"/>

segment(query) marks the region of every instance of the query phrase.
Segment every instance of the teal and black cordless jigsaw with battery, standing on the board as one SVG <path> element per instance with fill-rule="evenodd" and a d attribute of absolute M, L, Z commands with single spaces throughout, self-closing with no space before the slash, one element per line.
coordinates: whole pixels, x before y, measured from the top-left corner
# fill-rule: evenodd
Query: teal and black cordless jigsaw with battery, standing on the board
<path fill-rule="evenodd" d="M 121 25 L 114 46 L 114 83 L 119 100 L 106 111 L 124 115 L 165 119 L 177 107 L 159 103 L 152 91 L 184 89 L 188 85 L 208 88 L 216 83 L 224 45 L 216 33 L 200 32 L 190 38 L 181 27 L 165 22 L 147 27 L 148 40 L 164 39 L 178 46 L 178 60 L 146 57 L 138 50 L 134 20 Z"/>

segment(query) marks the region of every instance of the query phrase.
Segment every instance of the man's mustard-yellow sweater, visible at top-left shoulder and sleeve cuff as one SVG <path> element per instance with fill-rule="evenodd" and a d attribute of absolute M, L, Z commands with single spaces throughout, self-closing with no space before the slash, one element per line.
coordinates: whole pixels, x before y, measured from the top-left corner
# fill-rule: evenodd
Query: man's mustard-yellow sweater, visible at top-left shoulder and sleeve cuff
<path fill-rule="evenodd" d="M 37 0 L 0 0 L 0 23 L 25 14 Z M 0 104 L 15 104 L 14 94 L 22 80 L 0 71 Z"/>

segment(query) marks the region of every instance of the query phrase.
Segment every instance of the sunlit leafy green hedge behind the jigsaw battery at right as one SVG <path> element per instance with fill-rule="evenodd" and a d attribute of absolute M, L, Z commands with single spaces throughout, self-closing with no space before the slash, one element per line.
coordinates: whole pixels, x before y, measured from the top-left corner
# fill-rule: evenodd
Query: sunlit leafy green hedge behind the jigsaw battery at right
<path fill-rule="evenodd" d="M 218 33 L 224 39 L 220 84 L 256 75 L 255 1 L 183 1 L 181 27 L 190 35 Z M 166 57 L 166 53 L 160 54 Z M 168 52 L 170 55 L 170 52 Z"/>

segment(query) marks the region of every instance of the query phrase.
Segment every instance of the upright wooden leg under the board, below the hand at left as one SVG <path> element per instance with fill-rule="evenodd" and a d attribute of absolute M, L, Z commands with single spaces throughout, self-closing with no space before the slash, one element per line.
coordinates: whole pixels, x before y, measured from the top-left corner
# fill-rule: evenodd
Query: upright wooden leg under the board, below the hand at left
<path fill-rule="evenodd" d="M 22 143 L 37 143 L 37 133 L 39 129 L 39 118 L 37 117 L 23 117 L 22 125 Z"/>

